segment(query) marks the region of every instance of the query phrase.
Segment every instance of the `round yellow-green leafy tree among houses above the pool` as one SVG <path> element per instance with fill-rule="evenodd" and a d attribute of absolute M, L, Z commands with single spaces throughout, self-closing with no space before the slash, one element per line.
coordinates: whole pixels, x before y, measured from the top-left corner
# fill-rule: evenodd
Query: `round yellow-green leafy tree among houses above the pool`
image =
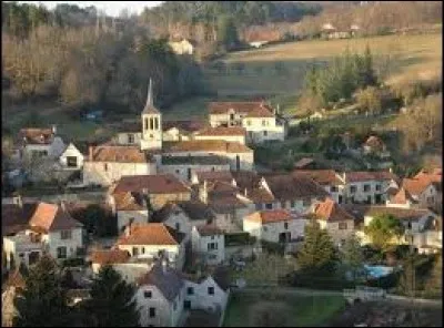
<path fill-rule="evenodd" d="M 379 249 L 390 249 L 393 239 L 400 238 L 404 233 L 402 223 L 391 214 L 375 216 L 364 227 L 364 233 L 371 238 L 372 244 Z"/>

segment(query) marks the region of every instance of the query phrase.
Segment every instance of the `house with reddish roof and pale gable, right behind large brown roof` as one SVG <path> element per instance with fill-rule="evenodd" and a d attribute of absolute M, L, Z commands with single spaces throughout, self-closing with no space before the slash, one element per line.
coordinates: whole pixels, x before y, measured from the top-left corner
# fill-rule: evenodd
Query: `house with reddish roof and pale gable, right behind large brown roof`
<path fill-rule="evenodd" d="M 294 175 L 307 176 L 324 187 L 325 192 L 330 194 L 334 202 L 337 204 L 344 203 L 344 188 L 345 182 L 342 176 L 333 170 L 295 170 Z"/>

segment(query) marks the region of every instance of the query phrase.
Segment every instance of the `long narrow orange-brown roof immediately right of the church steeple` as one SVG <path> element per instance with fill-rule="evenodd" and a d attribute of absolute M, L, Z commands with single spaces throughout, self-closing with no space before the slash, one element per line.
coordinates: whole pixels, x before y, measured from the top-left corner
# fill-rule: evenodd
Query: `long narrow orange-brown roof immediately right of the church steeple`
<path fill-rule="evenodd" d="M 163 143 L 163 153 L 179 152 L 251 153 L 253 151 L 239 142 L 223 140 L 192 140 Z"/>

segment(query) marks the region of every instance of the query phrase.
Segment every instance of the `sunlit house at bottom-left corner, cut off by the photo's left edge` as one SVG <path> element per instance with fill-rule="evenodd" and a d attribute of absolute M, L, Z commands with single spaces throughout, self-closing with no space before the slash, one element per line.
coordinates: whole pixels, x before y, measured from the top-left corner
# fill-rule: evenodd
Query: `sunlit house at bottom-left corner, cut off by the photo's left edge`
<path fill-rule="evenodd" d="M 12 320 L 18 315 L 14 301 L 20 290 L 26 287 L 19 268 L 10 271 L 1 293 L 1 327 L 13 327 Z"/>

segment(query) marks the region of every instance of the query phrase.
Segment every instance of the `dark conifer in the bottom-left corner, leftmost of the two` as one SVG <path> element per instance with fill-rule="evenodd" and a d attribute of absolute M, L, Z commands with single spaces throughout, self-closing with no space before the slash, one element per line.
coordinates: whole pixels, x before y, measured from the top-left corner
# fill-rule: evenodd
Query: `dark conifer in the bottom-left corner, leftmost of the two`
<path fill-rule="evenodd" d="M 29 269 L 26 287 L 14 300 L 18 315 L 13 326 L 39 327 L 59 326 L 68 312 L 65 293 L 61 288 L 60 269 L 56 262 L 43 255 Z"/>

